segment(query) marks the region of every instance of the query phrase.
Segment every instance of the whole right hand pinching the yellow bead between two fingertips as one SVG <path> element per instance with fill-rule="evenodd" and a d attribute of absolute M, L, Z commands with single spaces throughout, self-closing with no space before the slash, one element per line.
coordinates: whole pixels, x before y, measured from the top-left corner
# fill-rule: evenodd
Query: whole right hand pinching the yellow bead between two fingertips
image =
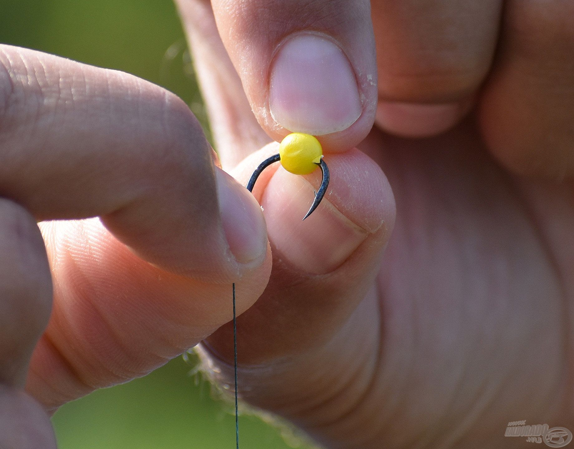
<path fill-rule="evenodd" d="M 301 177 L 279 168 L 255 192 L 273 271 L 238 319 L 239 393 L 327 447 L 523 447 L 509 421 L 574 428 L 574 197 L 556 181 L 574 155 L 572 5 L 418 3 L 373 2 L 373 35 L 363 1 L 214 1 L 215 18 L 179 1 L 224 167 L 245 180 L 276 152 L 266 134 L 308 120 L 295 130 L 329 152 L 304 224 Z M 342 153 L 377 97 L 388 132 L 360 144 L 370 158 Z M 231 341 L 227 325 L 202 346 L 223 384 Z"/>

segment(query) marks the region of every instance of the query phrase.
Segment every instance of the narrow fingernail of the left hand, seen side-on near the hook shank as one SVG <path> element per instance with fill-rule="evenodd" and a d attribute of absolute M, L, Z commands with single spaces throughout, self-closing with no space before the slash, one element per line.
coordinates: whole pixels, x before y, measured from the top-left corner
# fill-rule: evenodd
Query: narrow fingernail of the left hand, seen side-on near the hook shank
<path fill-rule="evenodd" d="M 242 264 L 267 252 L 267 231 L 253 195 L 223 170 L 215 169 L 219 211 L 231 253 Z"/>

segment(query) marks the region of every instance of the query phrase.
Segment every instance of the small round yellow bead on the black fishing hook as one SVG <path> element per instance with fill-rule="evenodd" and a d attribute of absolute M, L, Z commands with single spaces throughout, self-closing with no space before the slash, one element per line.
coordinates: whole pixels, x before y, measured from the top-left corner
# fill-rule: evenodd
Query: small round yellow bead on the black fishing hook
<path fill-rule="evenodd" d="M 294 175 L 312 173 L 323 157 L 323 148 L 311 134 L 291 133 L 279 145 L 283 168 Z"/>

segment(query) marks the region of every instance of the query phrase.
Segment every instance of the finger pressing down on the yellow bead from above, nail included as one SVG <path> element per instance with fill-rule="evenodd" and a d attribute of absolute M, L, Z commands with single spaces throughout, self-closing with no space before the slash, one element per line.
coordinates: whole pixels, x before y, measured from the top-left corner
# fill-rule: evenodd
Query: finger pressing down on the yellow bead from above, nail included
<path fill-rule="evenodd" d="M 358 144 L 374 121 L 377 71 L 367 0 L 212 2 L 255 117 L 274 140 Z M 185 11 L 187 0 L 180 0 Z"/>

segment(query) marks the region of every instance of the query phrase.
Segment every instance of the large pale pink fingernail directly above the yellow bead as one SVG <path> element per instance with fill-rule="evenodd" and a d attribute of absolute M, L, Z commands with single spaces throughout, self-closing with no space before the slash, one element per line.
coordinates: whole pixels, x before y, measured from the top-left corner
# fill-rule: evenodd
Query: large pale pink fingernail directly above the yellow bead
<path fill-rule="evenodd" d="M 313 136 L 351 126 L 362 107 L 355 73 L 338 45 L 317 34 L 284 42 L 273 61 L 269 109 L 282 127 Z"/>

